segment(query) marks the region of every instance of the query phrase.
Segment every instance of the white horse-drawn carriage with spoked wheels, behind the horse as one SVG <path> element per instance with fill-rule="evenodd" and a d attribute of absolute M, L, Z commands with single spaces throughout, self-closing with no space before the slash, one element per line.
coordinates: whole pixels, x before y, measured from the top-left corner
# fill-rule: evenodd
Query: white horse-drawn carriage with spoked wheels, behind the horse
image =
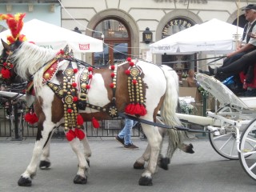
<path fill-rule="evenodd" d="M 243 169 L 256 180 L 256 97 L 238 98 L 222 82 L 206 74 L 196 74 L 202 88 L 217 98 L 217 112 L 207 117 L 178 114 L 181 120 L 210 130 L 214 150 L 228 159 L 239 159 Z"/>

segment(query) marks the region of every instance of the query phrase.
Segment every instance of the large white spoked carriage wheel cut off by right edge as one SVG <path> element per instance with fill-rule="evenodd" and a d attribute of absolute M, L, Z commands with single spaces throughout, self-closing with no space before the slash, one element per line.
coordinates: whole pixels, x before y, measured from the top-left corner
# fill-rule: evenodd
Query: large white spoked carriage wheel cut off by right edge
<path fill-rule="evenodd" d="M 256 119 L 242 132 L 239 160 L 246 174 L 256 180 Z M 250 155 L 250 158 L 247 158 Z"/>

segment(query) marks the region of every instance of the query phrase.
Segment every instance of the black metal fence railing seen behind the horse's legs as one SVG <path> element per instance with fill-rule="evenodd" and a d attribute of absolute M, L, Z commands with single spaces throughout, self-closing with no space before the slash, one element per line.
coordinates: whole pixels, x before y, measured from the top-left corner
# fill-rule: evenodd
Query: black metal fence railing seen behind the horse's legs
<path fill-rule="evenodd" d="M 30 125 L 24 120 L 27 110 L 21 102 L 13 103 L 11 106 L 8 102 L 0 101 L 0 137 L 11 138 L 12 140 L 22 140 L 27 137 L 35 137 L 38 126 L 35 123 Z M 114 118 L 112 120 L 100 121 L 100 127 L 95 129 L 91 122 L 85 122 L 87 137 L 114 137 L 118 134 L 123 126 L 122 118 Z M 134 126 L 132 137 L 140 137 L 142 135 L 142 127 L 138 123 Z M 65 138 L 62 127 L 54 129 L 54 138 Z"/>

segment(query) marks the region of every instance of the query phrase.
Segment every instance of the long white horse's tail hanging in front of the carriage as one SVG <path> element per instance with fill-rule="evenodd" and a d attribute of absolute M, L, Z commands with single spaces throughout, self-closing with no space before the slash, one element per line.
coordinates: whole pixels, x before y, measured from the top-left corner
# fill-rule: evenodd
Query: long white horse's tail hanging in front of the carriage
<path fill-rule="evenodd" d="M 181 126 L 176 114 L 178 107 L 178 75 L 170 67 L 162 67 L 162 71 L 166 76 L 166 96 L 161 107 L 161 117 L 163 122 L 168 126 Z M 182 145 L 185 138 L 184 131 L 167 129 L 169 135 L 169 145 L 167 149 L 167 158 L 171 158 L 174 151 Z"/>

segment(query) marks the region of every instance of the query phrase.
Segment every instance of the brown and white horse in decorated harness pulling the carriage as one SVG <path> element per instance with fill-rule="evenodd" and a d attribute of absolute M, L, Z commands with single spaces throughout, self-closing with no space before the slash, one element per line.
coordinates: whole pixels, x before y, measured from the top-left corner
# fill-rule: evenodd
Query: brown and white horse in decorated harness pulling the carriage
<path fill-rule="evenodd" d="M 36 89 L 35 110 L 39 118 L 38 135 L 30 165 L 18 180 L 19 186 L 31 186 L 31 178 L 36 174 L 37 162 L 40 155 L 43 153 L 42 157 L 45 158 L 43 160 L 45 162 L 48 161 L 49 147 L 46 147 L 46 145 L 50 145 L 47 141 L 52 134 L 52 130 L 64 122 L 64 104 L 62 99 L 58 98 L 46 83 L 42 83 L 44 66 L 50 60 L 56 58 L 57 51 L 46 50 L 28 42 L 22 42 L 20 46 L 18 45 L 18 48 L 13 48 L 4 43 L 4 47 L 6 50 L 11 51 L 8 59 L 14 64 L 14 70 L 18 76 L 27 81 L 30 80 L 31 75 L 34 77 L 33 81 Z M 59 62 L 58 70 L 49 82 L 62 85 L 62 72 L 66 70 L 69 64 L 70 61 L 65 59 Z M 76 62 L 71 62 L 71 65 L 74 69 L 79 68 L 79 71 L 84 67 L 78 66 Z M 181 123 L 175 114 L 178 105 L 177 74 L 168 67 L 160 67 L 144 61 L 136 62 L 136 66 L 142 72 L 142 90 L 144 90 L 143 97 L 145 98 L 144 104 L 147 111 L 140 118 L 150 122 L 156 122 L 156 115 L 158 110 L 161 109 L 161 116 L 166 125 L 180 126 Z M 87 102 L 94 106 L 105 107 L 109 106 L 113 102 L 113 98 L 115 98 L 115 106 L 118 112 L 124 112 L 125 107 L 130 103 L 129 85 L 127 83 L 128 76 L 126 74 L 126 70 L 129 68 L 129 62 L 123 62 L 118 65 L 115 91 L 113 91 L 113 70 L 111 70 L 111 67 L 94 69 L 92 72 L 93 78 L 90 82 L 90 90 L 87 93 Z M 78 74 L 76 74 L 75 78 L 77 81 L 76 85 L 79 85 Z M 76 86 L 75 89 L 79 90 L 79 87 Z M 106 111 L 91 108 L 79 110 L 78 113 L 82 114 L 82 118 L 85 121 L 91 121 L 92 118 L 98 118 L 98 120 L 111 118 L 110 114 Z M 150 150 L 150 153 L 146 153 L 148 157 L 144 158 L 144 160 L 138 158 L 134 165 L 142 165 L 144 164 L 143 161 L 149 159 L 148 166 L 139 179 L 139 185 L 150 186 L 152 185 L 152 174 L 156 171 L 162 136 L 156 126 L 142 124 L 142 129 L 148 139 L 149 147 L 147 149 L 148 151 Z M 183 132 L 167 130 L 167 133 L 170 136 L 170 154 L 173 154 L 174 150 L 178 147 L 182 148 Z M 86 149 L 84 151 L 86 157 L 78 146 L 79 139 L 74 138 L 70 141 L 74 153 L 78 156 L 78 173 L 74 178 L 74 183 L 86 183 L 87 181 L 85 171 L 89 169 L 89 165 L 86 162 L 86 158 L 90 157 L 90 146 L 86 137 L 82 138 L 82 143 Z M 43 150 L 45 148 L 48 150 Z"/>

